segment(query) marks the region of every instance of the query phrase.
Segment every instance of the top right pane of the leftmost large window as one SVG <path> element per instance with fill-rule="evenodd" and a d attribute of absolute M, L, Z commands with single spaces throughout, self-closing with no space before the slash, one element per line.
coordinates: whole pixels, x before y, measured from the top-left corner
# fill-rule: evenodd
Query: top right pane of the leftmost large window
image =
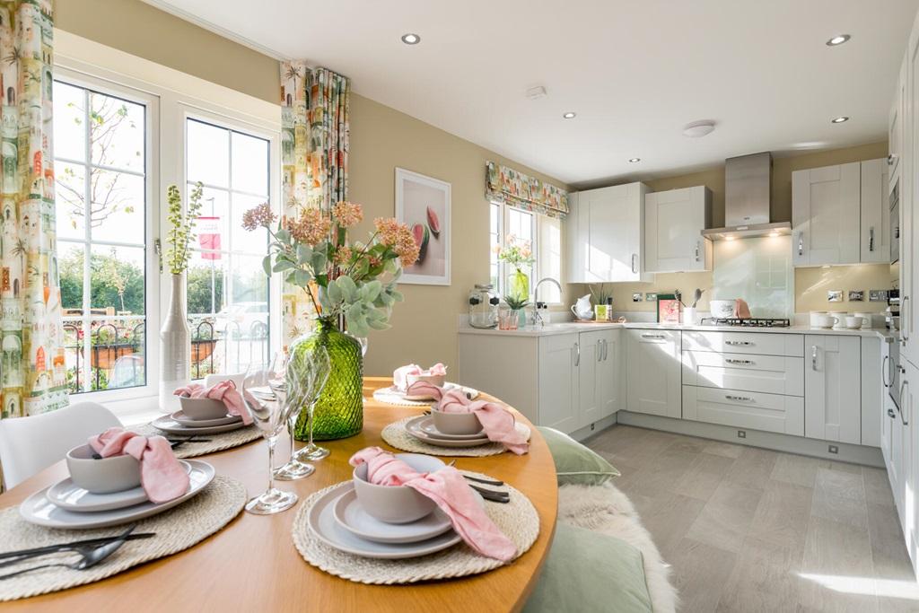
<path fill-rule="evenodd" d="M 89 142 L 93 164 L 144 170 L 144 108 L 104 94 L 89 94 Z"/>

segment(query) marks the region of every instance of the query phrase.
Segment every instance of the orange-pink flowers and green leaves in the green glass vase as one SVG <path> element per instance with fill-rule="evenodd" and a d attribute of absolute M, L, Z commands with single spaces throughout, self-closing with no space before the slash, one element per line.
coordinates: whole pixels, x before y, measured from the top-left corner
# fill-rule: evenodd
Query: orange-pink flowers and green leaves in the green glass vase
<path fill-rule="evenodd" d="M 272 228 L 277 215 L 267 203 L 260 204 L 245 212 L 243 227 L 267 229 L 271 243 L 262 261 L 265 274 L 281 272 L 285 281 L 306 291 L 320 318 L 333 321 L 344 315 L 356 336 L 385 330 L 392 305 L 403 300 L 396 283 L 402 268 L 418 259 L 418 244 L 408 226 L 392 218 L 374 220 L 375 231 L 366 243 L 349 241 L 348 229 L 363 221 L 364 210 L 339 202 L 330 212 L 304 209 Z"/>

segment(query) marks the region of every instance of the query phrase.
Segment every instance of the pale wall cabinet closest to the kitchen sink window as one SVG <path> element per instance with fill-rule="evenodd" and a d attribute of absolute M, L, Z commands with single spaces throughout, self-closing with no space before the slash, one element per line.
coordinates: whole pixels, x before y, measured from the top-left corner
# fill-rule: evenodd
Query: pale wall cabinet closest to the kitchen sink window
<path fill-rule="evenodd" d="M 571 195 L 565 221 L 570 283 L 652 281 L 645 273 L 643 183 Z"/>

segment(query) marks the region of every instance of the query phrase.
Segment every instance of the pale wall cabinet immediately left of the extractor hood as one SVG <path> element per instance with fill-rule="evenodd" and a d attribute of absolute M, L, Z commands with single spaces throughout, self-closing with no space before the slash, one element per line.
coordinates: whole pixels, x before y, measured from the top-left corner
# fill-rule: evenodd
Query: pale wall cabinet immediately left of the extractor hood
<path fill-rule="evenodd" d="M 711 191 L 684 187 L 644 197 L 644 253 L 647 272 L 711 270 Z"/>

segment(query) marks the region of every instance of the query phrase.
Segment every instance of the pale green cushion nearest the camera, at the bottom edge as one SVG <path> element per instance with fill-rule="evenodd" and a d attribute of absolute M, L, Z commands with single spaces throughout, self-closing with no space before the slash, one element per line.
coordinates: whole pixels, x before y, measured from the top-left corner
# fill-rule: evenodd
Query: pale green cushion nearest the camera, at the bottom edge
<path fill-rule="evenodd" d="M 560 523 L 524 613 L 650 613 L 641 551 L 629 543 Z"/>

